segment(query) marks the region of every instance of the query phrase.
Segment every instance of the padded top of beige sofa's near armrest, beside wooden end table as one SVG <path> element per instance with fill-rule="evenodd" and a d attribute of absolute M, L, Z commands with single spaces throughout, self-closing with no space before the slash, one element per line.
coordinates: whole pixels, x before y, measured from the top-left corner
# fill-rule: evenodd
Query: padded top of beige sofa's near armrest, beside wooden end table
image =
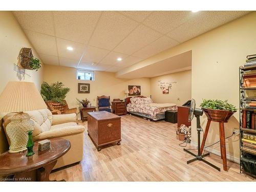
<path fill-rule="evenodd" d="M 63 137 L 68 135 L 74 135 L 83 133 L 85 130 L 84 126 L 77 125 L 77 126 L 67 126 L 61 129 L 53 129 L 47 132 L 42 132 L 39 135 L 33 137 L 34 141 L 42 140 L 42 139 L 49 139 L 55 137 Z"/>

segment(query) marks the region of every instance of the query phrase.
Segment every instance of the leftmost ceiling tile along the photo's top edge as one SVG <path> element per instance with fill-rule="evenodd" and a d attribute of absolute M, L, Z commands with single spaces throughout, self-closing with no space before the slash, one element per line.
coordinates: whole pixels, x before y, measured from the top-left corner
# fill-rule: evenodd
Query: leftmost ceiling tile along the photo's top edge
<path fill-rule="evenodd" d="M 23 29 L 54 35 L 51 11 L 13 11 L 13 14 Z"/>

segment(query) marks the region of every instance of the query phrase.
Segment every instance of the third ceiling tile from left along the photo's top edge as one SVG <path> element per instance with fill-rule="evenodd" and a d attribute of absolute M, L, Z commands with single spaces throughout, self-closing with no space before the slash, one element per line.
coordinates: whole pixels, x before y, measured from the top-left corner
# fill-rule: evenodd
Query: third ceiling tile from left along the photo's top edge
<path fill-rule="evenodd" d="M 104 11 L 89 45 L 112 50 L 137 25 L 137 22 L 118 12 Z"/>

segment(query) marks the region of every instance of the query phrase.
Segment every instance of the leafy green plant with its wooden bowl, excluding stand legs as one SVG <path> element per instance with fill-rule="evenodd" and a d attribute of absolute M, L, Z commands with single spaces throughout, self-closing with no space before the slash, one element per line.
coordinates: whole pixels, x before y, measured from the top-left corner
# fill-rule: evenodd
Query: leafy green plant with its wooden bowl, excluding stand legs
<path fill-rule="evenodd" d="M 236 106 L 228 103 L 227 100 L 203 99 L 200 106 L 208 119 L 218 122 L 227 122 L 233 113 L 237 112 Z"/>

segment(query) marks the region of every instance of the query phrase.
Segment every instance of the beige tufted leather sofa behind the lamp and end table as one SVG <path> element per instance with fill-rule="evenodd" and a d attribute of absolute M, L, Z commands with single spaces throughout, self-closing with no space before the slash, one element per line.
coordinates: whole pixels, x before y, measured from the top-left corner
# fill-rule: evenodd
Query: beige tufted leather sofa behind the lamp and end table
<path fill-rule="evenodd" d="M 77 125 L 76 114 L 52 115 L 48 109 L 27 111 L 25 113 L 28 113 L 35 123 L 32 135 L 34 141 L 49 138 L 63 138 L 70 141 L 71 148 L 69 152 L 58 159 L 54 169 L 82 160 L 85 128 Z M 4 116 L 4 130 L 13 115 L 14 113 Z M 10 144 L 8 137 L 7 140 Z"/>

